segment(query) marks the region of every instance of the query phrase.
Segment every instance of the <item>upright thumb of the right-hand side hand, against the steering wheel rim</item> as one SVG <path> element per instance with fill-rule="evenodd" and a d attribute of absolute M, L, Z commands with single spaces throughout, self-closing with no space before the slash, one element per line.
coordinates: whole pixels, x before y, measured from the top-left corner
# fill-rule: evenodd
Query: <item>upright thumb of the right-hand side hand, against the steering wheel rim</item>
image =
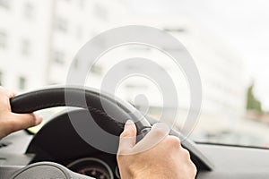
<path fill-rule="evenodd" d="M 136 142 L 136 126 L 133 121 L 128 120 L 124 131 L 120 134 L 118 153 L 132 149 Z"/>

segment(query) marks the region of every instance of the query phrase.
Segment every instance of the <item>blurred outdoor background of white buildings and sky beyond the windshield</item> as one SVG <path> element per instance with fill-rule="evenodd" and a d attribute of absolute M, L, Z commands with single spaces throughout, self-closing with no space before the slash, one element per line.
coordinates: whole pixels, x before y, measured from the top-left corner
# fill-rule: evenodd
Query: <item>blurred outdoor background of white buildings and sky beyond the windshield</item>
<path fill-rule="evenodd" d="M 203 107 L 190 138 L 269 147 L 268 9 L 266 0 L 0 0 L 0 84 L 18 92 L 65 84 L 75 54 L 88 40 L 119 26 L 152 26 L 178 38 L 200 72 Z M 189 110 L 187 81 L 155 49 L 130 45 L 108 52 L 91 68 L 86 86 L 100 88 L 111 66 L 135 56 L 153 59 L 171 75 L 180 130 Z M 117 90 L 141 109 L 140 94 L 158 119 L 161 93 L 152 81 L 129 78 Z"/>

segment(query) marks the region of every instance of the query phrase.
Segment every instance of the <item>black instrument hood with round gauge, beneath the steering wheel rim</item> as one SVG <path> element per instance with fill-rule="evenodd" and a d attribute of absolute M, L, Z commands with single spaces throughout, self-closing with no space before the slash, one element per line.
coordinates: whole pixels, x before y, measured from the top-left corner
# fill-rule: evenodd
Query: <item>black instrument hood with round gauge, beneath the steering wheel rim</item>
<path fill-rule="evenodd" d="M 78 120 L 83 120 L 84 112 L 74 110 L 73 113 Z M 52 119 L 44 125 L 30 141 L 26 153 L 35 154 L 31 163 L 51 161 L 66 166 L 75 173 L 97 179 L 120 178 L 116 156 L 95 149 L 83 141 L 66 113 L 56 115 L 56 120 Z"/>

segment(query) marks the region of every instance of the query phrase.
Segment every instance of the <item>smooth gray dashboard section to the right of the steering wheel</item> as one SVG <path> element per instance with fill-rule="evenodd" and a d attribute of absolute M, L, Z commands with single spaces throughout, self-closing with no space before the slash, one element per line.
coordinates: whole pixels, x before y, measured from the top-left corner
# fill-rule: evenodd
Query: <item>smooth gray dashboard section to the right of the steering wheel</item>
<path fill-rule="evenodd" d="M 269 150 L 231 146 L 198 144 L 198 148 L 212 161 L 213 171 L 201 171 L 201 179 L 267 179 L 269 178 Z"/>

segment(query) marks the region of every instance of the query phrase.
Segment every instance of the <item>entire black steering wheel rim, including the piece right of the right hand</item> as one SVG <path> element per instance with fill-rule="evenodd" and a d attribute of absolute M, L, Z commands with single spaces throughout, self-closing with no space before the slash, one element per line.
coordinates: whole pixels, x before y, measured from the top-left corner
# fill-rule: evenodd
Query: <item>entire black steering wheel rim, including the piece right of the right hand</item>
<path fill-rule="evenodd" d="M 127 118 L 124 118 L 124 120 L 121 122 L 115 121 L 117 127 L 119 126 L 121 129 L 123 129 L 127 119 L 134 120 L 134 124 L 137 128 L 137 134 L 138 136 L 141 136 L 140 138 L 138 138 L 139 140 L 142 139 L 143 136 L 147 132 L 149 132 L 152 127 L 152 125 L 148 122 L 146 118 L 144 118 L 141 113 L 139 113 L 133 106 L 126 103 L 125 101 L 122 101 L 119 98 L 112 97 L 107 93 L 102 92 L 102 94 L 100 94 L 98 90 L 94 90 L 91 88 L 85 89 L 84 87 L 63 86 L 34 90 L 12 98 L 10 100 L 11 108 L 14 113 L 19 114 L 32 113 L 34 111 L 48 107 L 82 107 L 88 109 L 87 107 L 82 106 L 81 101 L 78 101 L 78 103 L 76 104 L 66 104 L 65 95 L 71 95 L 73 98 L 84 96 L 88 100 L 94 98 L 94 101 L 97 103 L 91 103 L 93 107 L 100 107 L 100 98 L 104 98 L 112 102 L 112 104 L 114 104 L 113 107 L 115 107 L 118 112 L 118 115 L 124 113 L 126 116 L 128 116 Z M 54 103 L 55 100 L 57 101 L 57 103 Z M 89 104 L 88 100 L 87 104 Z M 118 111 L 118 109 L 122 109 L 122 111 Z M 130 113 L 131 111 L 135 111 L 135 113 Z M 98 122 L 96 119 L 94 120 Z M 175 132 L 172 130 L 170 134 L 175 135 L 180 139 L 179 132 Z M 213 164 L 208 158 L 204 156 L 204 154 L 199 149 L 196 149 L 194 142 L 188 140 L 182 141 L 182 145 L 187 147 L 192 156 L 197 159 L 197 161 L 195 161 L 195 164 L 203 165 L 205 169 L 212 170 Z"/>

